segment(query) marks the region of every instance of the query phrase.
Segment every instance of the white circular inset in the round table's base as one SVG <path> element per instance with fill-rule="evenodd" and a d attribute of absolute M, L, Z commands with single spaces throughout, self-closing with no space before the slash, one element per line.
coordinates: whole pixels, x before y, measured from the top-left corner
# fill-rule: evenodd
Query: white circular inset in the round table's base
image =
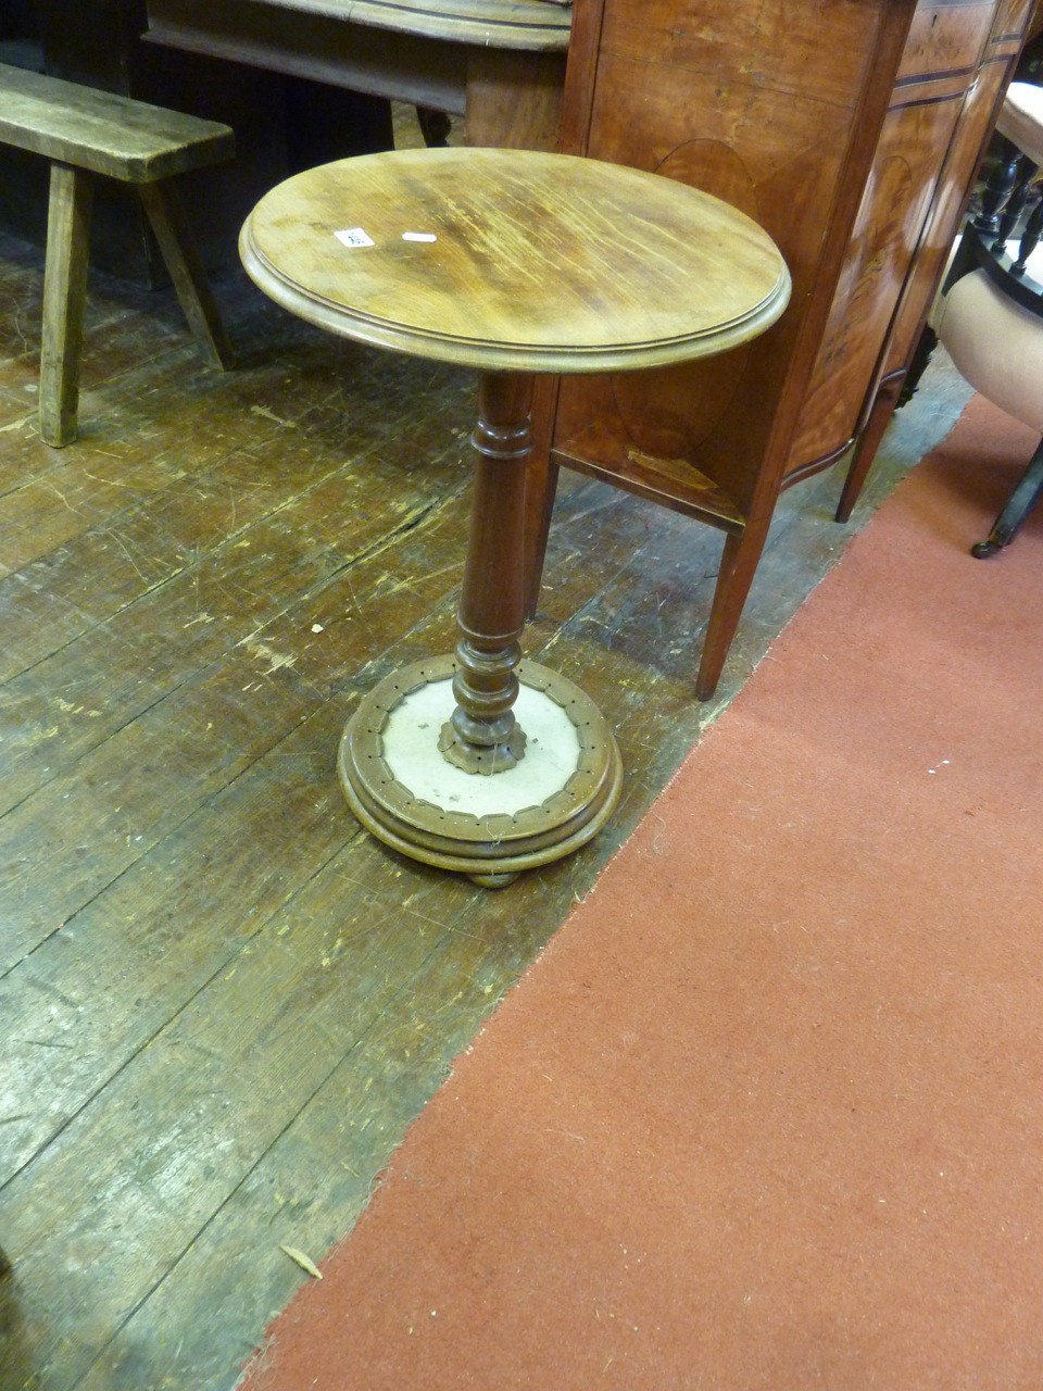
<path fill-rule="evenodd" d="M 471 817 L 513 817 L 560 791 L 576 772 L 576 726 L 544 691 L 522 683 L 515 715 L 527 736 L 526 755 L 515 768 L 498 773 L 464 772 L 439 751 L 442 725 L 455 707 L 452 677 L 446 677 L 420 686 L 388 715 L 381 736 L 384 761 L 414 797 Z"/>

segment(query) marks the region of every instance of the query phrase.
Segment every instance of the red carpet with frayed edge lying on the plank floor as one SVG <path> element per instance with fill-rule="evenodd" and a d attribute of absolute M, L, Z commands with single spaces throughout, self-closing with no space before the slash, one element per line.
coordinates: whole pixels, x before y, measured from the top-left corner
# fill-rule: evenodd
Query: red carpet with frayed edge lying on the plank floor
<path fill-rule="evenodd" d="M 973 401 L 852 541 L 250 1391 L 1043 1387 L 1043 515 L 968 555 L 1033 444 Z"/>

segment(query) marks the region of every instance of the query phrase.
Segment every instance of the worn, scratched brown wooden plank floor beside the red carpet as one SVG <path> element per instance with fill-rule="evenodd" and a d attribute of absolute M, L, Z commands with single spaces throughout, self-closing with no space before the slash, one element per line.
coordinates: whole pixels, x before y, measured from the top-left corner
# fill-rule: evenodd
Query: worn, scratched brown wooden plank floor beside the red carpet
<path fill-rule="evenodd" d="M 716 701 L 716 533 L 566 479 L 527 652 L 616 729 L 598 842 L 502 893 L 362 833 L 362 691 L 449 650 L 469 374 L 335 342 L 245 277 L 241 356 L 92 278 L 82 438 L 36 431 L 42 256 L 0 238 L 0 1387 L 232 1387 L 496 1000 L 837 558 L 793 490 Z M 946 433 L 946 369 L 865 519 Z"/>

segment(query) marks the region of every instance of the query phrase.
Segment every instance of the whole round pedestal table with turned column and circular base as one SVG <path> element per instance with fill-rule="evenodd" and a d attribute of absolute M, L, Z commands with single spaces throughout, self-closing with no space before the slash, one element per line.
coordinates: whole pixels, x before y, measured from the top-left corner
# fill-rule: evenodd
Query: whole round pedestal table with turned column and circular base
<path fill-rule="evenodd" d="M 622 785 L 594 702 L 522 659 L 534 374 L 659 367 L 733 348 L 784 309 L 786 266 L 755 223 L 687 185 L 503 149 L 398 150 L 307 170 L 261 199 L 239 250 L 291 313 L 480 374 L 456 652 L 414 662 L 363 698 L 339 775 L 378 839 L 499 887 L 585 844 Z"/>

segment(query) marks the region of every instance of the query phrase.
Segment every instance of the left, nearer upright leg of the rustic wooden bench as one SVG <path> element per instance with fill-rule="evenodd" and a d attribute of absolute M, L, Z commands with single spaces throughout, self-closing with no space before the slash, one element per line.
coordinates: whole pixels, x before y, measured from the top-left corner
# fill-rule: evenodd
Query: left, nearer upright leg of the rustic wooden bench
<path fill-rule="evenodd" d="M 51 164 L 43 271 L 40 435 L 56 448 L 76 438 L 92 195 L 89 174 L 68 164 Z"/>

